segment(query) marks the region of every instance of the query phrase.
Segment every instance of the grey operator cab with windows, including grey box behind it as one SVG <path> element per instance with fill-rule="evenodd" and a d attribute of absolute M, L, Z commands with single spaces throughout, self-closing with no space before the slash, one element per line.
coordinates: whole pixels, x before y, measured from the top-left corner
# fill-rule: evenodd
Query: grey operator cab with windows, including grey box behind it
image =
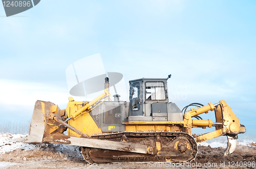
<path fill-rule="evenodd" d="M 181 110 L 175 103 L 169 102 L 167 79 L 140 78 L 129 81 L 129 121 L 183 120 Z"/>

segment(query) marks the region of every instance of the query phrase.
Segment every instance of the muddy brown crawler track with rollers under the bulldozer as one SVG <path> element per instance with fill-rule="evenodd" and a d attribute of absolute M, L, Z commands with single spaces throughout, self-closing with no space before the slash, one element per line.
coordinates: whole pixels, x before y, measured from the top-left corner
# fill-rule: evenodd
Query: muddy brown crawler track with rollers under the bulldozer
<path fill-rule="evenodd" d="M 82 155 L 90 163 L 191 161 L 196 158 L 198 151 L 195 139 L 183 132 L 118 132 L 93 135 L 92 138 L 150 146 L 154 154 L 82 147 Z"/>

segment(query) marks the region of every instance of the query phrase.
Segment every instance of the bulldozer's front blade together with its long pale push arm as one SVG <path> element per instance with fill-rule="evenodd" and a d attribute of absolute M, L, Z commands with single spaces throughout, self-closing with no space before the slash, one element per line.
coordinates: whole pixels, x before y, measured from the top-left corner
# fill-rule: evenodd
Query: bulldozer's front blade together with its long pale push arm
<path fill-rule="evenodd" d="M 24 143 L 32 143 L 38 144 L 42 142 L 53 143 L 53 144 L 68 144 L 75 146 L 86 146 L 92 148 L 99 149 L 110 149 L 116 151 L 125 151 L 125 152 L 134 152 L 134 153 L 142 153 L 142 154 L 152 154 L 150 152 L 150 147 L 144 145 L 138 145 L 133 143 L 119 143 L 112 142 L 109 140 L 101 140 L 101 139 L 92 139 L 92 138 L 83 138 L 83 137 L 72 137 L 69 135 L 65 135 L 59 133 L 56 130 L 50 131 L 51 125 L 54 125 L 54 128 L 62 128 L 65 125 L 65 122 L 62 121 L 61 118 L 52 117 L 53 114 L 52 109 L 58 108 L 54 106 L 52 102 L 39 101 L 37 100 L 35 103 L 29 135 Z M 51 108 L 52 106 L 52 108 Z M 59 112 L 55 111 L 54 115 L 57 115 Z M 50 119 L 49 119 L 50 118 Z M 56 120 L 57 119 L 57 120 Z M 60 127 L 60 123 L 62 122 L 62 126 Z M 67 124 L 66 124 L 67 125 Z M 69 127 L 69 126 L 67 126 Z M 70 126 L 72 127 L 72 126 Z"/>

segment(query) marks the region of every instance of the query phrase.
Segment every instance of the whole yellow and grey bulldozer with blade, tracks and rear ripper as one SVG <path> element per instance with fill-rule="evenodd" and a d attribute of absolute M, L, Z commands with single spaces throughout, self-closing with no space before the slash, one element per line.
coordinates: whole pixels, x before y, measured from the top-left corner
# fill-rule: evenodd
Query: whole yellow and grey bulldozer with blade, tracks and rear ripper
<path fill-rule="evenodd" d="M 110 99 L 108 77 L 104 92 L 92 101 L 69 97 L 67 108 L 60 109 L 52 102 L 37 100 L 24 142 L 79 146 L 89 163 L 189 162 L 196 158 L 197 143 L 226 135 L 223 157 L 231 154 L 238 134 L 246 128 L 228 104 L 224 100 L 207 105 L 191 103 L 180 110 L 169 101 L 170 76 L 130 80 L 129 102 L 121 101 L 118 94 L 114 101 Z M 215 122 L 199 116 L 208 111 L 215 111 Z M 191 134 L 194 127 L 215 130 Z"/>

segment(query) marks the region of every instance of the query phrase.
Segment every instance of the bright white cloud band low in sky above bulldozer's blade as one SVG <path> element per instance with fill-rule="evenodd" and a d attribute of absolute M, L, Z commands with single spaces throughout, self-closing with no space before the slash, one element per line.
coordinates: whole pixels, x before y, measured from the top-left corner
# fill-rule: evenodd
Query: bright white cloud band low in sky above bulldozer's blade
<path fill-rule="evenodd" d="M 67 89 L 42 83 L 0 79 L 0 103 L 5 111 L 22 112 L 32 110 L 36 100 L 50 101 L 66 108 L 69 93 Z M 9 113 L 9 112 L 4 112 Z M 32 115 L 32 112 L 26 112 Z"/>

